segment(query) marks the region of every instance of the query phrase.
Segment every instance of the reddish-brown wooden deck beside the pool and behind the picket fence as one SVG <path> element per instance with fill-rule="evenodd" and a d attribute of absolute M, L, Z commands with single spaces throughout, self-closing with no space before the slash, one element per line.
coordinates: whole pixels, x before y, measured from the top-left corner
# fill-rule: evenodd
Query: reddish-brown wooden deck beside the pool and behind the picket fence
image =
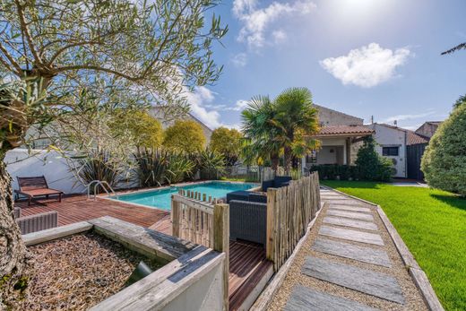
<path fill-rule="evenodd" d="M 101 216 L 112 216 L 119 220 L 154 229 L 171 235 L 169 212 L 145 208 L 132 204 L 118 203 L 104 199 L 88 200 L 85 195 L 65 196 L 61 203 L 56 199 L 39 200 L 28 206 L 17 202 L 22 216 L 40 212 L 58 212 L 58 226 Z M 229 309 L 237 310 L 263 276 L 271 269 L 272 263 L 265 259 L 265 249 L 255 243 L 231 241 L 229 246 Z"/>

